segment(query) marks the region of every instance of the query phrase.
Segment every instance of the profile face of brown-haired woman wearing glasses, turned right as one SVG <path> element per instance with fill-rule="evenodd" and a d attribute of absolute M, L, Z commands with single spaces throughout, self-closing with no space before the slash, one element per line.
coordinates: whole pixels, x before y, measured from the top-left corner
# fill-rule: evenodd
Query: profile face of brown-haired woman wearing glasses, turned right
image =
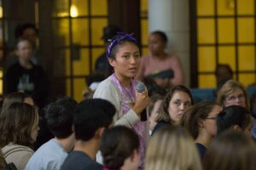
<path fill-rule="evenodd" d="M 202 120 L 202 126 L 204 130 L 212 137 L 217 133 L 216 118 L 218 113 L 222 110 L 220 105 L 214 105 L 212 111 L 209 113 L 206 119 Z"/>

